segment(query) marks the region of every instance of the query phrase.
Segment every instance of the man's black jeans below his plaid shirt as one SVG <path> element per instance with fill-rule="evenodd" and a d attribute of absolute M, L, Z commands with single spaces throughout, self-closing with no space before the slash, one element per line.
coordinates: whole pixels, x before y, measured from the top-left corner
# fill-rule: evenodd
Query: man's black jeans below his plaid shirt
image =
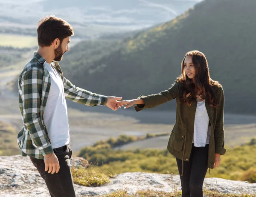
<path fill-rule="evenodd" d="M 73 178 L 70 171 L 70 158 L 72 155 L 70 145 L 54 148 L 53 151 L 58 157 L 60 165 L 58 173 L 51 174 L 44 171 L 44 160 L 32 157 L 30 157 L 30 160 L 44 179 L 51 197 L 76 197 Z"/>

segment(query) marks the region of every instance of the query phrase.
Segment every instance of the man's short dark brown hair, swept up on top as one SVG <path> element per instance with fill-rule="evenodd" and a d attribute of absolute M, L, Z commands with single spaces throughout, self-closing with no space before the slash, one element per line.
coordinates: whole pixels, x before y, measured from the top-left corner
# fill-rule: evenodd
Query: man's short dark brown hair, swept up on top
<path fill-rule="evenodd" d="M 67 21 L 51 15 L 38 22 L 37 33 L 38 45 L 50 46 L 56 38 L 62 43 L 64 38 L 73 36 L 74 30 Z"/>

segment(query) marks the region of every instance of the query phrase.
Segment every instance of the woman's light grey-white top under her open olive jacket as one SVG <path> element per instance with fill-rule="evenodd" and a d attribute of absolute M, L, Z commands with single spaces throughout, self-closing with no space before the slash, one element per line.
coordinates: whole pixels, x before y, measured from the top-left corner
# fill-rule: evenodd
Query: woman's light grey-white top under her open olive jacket
<path fill-rule="evenodd" d="M 194 138 L 196 147 L 204 147 L 209 144 L 211 129 L 209 127 L 209 116 L 205 107 L 205 101 L 198 101 L 195 112 Z"/>

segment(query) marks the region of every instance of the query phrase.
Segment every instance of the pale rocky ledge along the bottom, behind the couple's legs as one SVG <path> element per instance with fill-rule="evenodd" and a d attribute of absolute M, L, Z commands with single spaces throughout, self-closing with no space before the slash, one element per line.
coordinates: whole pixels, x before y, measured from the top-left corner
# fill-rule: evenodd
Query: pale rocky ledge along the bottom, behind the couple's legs
<path fill-rule="evenodd" d="M 76 157 L 70 162 L 76 168 L 87 167 L 88 162 L 83 158 Z M 111 179 L 110 183 L 100 187 L 84 187 L 75 185 L 78 197 L 99 196 L 109 194 L 119 189 L 128 193 L 138 190 L 172 192 L 180 190 L 180 177 L 169 174 L 153 173 L 123 173 Z M 204 188 L 219 191 L 225 194 L 255 194 L 256 183 L 224 180 L 220 178 L 207 178 Z M 0 197 L 49 197 L 49 192 L 44 180 L 38 174 L 29 157 L 20 155 L 0 157 Z"/>

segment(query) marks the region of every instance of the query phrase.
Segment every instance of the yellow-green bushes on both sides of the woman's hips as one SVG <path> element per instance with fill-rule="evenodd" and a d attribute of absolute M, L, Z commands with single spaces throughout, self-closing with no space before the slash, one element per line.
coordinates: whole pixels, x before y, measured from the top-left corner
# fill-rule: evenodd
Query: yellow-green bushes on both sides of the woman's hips
<path fill-rule="evenodd" d="M 145 149 L 135 151 L 113 150 L 116 144 L 122 144 L 136 139 L 132 136 L 120 136 L 101 141 L 93 146 L 84 147 L 79 157 L 84 157 L 91 168 L 104 174 L 120 174 L 123 172 L 154 172 L 161 174 L 178 174 L 175 157 L 167 150 Z M 120 143 L 122 142 L 122 143 Z M 219 177 L 230 180 L 244 180 L 256 183 L 256 143 L 250 143 L 235 148 L 228 148 L 221 157 L 221 165 L 210 170 L 207 177 Z"/>

